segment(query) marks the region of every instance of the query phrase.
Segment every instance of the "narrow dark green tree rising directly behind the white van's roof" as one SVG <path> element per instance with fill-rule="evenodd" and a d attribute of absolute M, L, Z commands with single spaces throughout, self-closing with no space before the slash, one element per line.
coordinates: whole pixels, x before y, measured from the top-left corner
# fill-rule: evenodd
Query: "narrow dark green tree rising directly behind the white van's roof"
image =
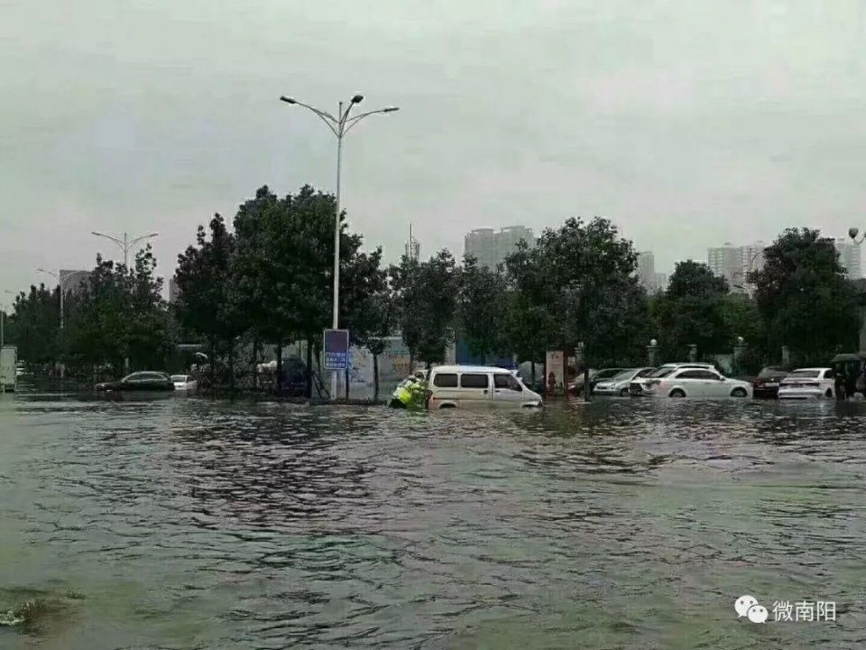
<path fill-rule="evenodd" d="M 485 363 L 488 354 L 503 352 L 506 343 L 508 287 L 499 271 L 478 265 L 467 255 L 458 276 L 457 311 L 469 351 Z"/>

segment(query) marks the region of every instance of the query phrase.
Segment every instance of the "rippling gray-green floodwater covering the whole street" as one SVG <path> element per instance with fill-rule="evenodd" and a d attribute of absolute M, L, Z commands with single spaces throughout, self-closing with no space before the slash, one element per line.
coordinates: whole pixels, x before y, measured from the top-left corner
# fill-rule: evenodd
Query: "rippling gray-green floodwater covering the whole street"
<path fill-rule="evenodd" d="M 862 647 L 864 469 L 864 403 L 0 395 L 0 647 Z"/>

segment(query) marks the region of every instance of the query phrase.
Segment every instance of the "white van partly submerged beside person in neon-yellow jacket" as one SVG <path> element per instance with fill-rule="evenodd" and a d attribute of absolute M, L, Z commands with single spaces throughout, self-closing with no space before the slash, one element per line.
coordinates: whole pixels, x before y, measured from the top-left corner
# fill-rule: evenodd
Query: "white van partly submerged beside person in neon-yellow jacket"
<path fill-rule="evenodd" d="M 428 408 L 520 408 L 540 406 L 541 395 L 530 391 L 511 370 L 489 366 L 437 366 L 428 379 Z"/>

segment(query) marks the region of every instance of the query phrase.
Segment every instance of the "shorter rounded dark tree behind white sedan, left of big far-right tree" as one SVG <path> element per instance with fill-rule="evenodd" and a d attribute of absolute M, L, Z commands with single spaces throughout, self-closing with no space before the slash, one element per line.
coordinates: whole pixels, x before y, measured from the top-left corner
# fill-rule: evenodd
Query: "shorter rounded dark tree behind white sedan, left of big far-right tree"
<path fill-rule="evenodd" d="M 707 355 L 731 349 L 724 318 L 728 284 L 700 262 L 678 262 L 667 290 L 654 302 L 659 345 L 664 357 L 685 359 L 688 346 Z"/>

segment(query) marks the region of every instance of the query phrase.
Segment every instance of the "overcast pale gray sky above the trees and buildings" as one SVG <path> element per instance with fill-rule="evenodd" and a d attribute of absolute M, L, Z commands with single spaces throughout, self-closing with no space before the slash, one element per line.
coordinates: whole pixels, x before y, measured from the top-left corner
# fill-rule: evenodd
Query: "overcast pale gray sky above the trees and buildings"
<path fill-rule="evenodd" d="M 471 228 L 612 218 L 659 270 L 788 225 L 866 226 L 866 5 L 0 0 L 0 291 L 157 230 L 161 274 L 267 183 L 332 190 L 291 94 L 394 104 L 344 205 L 389 260 Z M 8 295 L 0 293 L 0 302 Z"/>

